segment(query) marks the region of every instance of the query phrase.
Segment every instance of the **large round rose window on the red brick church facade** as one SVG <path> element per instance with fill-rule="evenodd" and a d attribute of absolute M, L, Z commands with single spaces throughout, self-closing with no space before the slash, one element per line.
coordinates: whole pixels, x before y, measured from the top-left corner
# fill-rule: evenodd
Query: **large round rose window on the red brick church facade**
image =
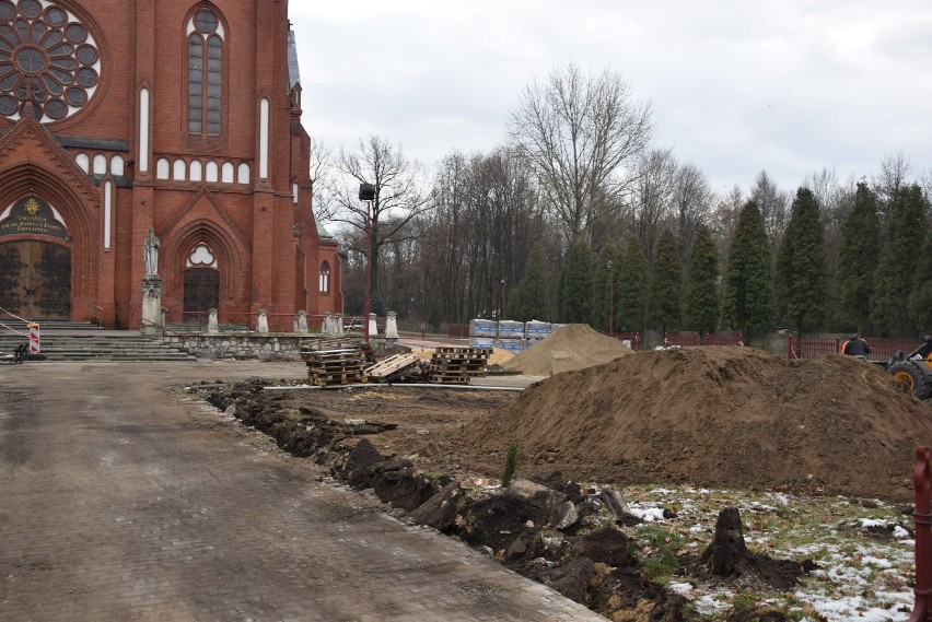
<path fill-rule="evenodd" d="M 77 114 L 101 81 L 101 55 L 70 11 L 39 0 L 0 0 L 0 115 L 32 106 L 42 121 Z"/>

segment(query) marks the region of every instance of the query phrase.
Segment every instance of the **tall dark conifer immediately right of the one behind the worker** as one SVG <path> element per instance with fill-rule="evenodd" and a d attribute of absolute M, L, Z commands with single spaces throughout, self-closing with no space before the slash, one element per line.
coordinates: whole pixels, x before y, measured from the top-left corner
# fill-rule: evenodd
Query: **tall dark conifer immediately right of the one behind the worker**
<path fill-rule="evenodd" d="M 916 331 L 909 297 L 916 284 L 919 258 L 925 239 L 929 202 L 917 186 L 901 186 L 887 207 L 884 244 L 874 273 L 871 320 L 884 335 L 907 337 Z"/>

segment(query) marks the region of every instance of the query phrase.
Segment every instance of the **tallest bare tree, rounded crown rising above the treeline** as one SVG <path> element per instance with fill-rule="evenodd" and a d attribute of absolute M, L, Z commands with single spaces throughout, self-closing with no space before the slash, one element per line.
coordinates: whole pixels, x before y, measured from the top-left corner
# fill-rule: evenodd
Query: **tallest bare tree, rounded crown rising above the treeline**
<path fill-rule="evenodd" d="M 509 137 L 533 165 L 567 239 L 591 237 L 596 199 L 624 189 L 624 168 L 652 133 L 650 104 L 636 99 L 620 74 L 584 75 L 572 63 L 527 85 L 509 119 Z"/>

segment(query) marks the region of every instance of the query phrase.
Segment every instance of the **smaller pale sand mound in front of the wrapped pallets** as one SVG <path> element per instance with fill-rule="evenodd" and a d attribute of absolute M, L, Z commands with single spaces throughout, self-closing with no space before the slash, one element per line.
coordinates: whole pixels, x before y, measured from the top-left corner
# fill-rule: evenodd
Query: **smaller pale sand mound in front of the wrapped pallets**
<path fill-rule="evenodd" d="M 608 363 L 626 354 L 633 352 L 617 339 L 598 333 L 585 324 L 568 324 L 509 361 L 508 366 L 528 376 L 551 376 Z"/>

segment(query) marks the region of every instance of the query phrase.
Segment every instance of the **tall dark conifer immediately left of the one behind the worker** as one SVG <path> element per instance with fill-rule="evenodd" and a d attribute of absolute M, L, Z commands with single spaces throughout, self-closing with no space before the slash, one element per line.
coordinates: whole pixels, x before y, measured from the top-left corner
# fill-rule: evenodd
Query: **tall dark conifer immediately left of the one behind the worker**
<path fill-rule="evenodd" d="M 818 201 L 808 188 L 800 188 L 790 208 L 790 223 L 777 256 L 773 281 L 780 316 L 797 335 L 819 320 L 825 312 L 825 230 Z"/>

